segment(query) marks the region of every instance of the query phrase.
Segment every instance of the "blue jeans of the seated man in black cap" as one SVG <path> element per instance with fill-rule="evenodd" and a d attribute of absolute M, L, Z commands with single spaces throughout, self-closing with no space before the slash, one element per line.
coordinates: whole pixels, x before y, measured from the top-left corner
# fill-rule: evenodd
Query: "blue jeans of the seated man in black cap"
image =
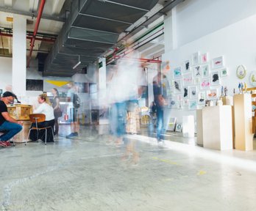
<path fill-rule="evenodd" d="M 4 135 L 0 136 L 0 141 L 8 141 L 22 130 L 22 126 L 16 123 L 5 121 L 0 125 L 0 131 L 1 130 L 6 130 L 7 133 L 4 133 Z"/>

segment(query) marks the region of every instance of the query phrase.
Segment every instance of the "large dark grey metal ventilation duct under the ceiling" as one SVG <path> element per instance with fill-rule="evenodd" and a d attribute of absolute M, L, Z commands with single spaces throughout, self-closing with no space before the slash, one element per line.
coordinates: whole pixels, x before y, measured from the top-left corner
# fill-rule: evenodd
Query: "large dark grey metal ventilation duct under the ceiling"
<path fill-rule="evenodd" d="M 71 76 L 76 69 L 96 62 L 98 56 L 115 45 L 119 34 L 152 10 L 157 1 L 72 1 L 71 12 L 46 59 L 43 74 Z"/>

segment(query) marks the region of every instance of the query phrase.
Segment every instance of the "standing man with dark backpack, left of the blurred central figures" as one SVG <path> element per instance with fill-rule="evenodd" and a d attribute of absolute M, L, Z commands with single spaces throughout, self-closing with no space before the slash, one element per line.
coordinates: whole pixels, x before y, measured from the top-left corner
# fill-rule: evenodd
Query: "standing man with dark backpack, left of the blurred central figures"
<path fill-rule="evenodd" d="M 73 121 L 71 122 L 71 133 L 68 136 L 65 136 L 65 138 L 73 138 L 78 136 L 78 131 L 79 131 L 79 125 L 77 122 L 77 114 L 78 114 L 78 108 L 79 108 L 79 103 L 76 103 L 79 98 L 77 98 L 77 89 L 76 86 L 74 86 L 73 82 L 70 82 L 67 84 L 68 85 L 68 94 L 66 97 L 67 102 L 72 103 L 71 110 L 73 111 Z M 77 99 L 75 99 L 77 98 Z"/>

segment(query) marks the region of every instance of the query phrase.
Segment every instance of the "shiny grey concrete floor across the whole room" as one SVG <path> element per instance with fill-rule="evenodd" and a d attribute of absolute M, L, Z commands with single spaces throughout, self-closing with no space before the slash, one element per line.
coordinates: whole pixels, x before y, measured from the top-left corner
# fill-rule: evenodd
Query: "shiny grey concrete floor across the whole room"
<path fill-rule="evenodd" d="M 120 144 L 96 129 L 1 148 L 1 210 L 256 210 L 256 151 L 204 149 L 176 133 L 166 146 L 141 135 Z"/>

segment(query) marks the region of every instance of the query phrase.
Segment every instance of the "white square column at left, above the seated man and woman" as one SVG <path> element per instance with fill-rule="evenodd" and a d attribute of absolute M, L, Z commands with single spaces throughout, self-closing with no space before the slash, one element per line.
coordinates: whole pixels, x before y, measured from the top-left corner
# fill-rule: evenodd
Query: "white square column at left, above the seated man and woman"
<path fill-rule="evenodd" d="M 26 18 L 13 15 L 13 92 L 26 95 Z"/>

